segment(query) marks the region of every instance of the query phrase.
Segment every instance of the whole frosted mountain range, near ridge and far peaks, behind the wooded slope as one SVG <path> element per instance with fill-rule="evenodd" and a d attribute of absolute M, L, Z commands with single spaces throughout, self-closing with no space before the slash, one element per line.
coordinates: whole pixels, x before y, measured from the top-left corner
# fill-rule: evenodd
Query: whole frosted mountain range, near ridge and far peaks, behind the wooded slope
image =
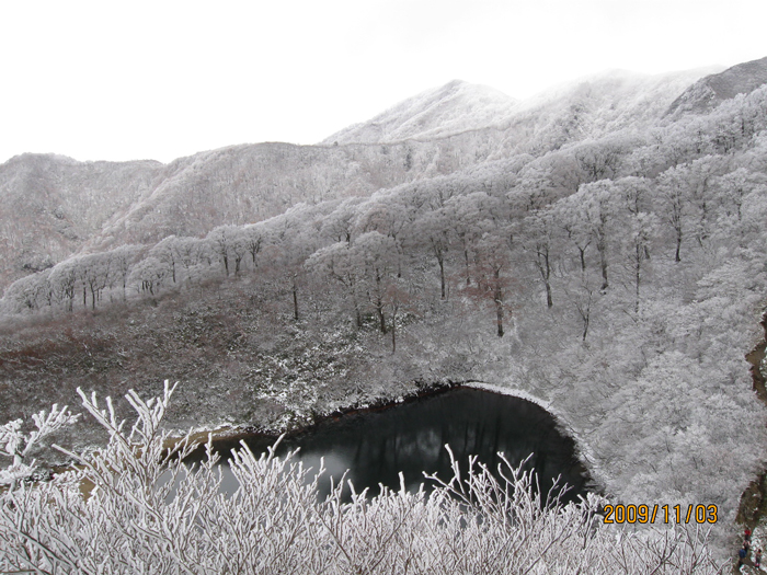
<path fill-rule="evenodd" d="M 153 243 L 170 234 L 202 237 L 221 223 L 259 221 L 300 202 L 366 196 L 641 129 L 709 71 L 610 71 L 525 102 L 456 80 L 317 146 L 232 146 L 169 164 L 23 154 L 0 165 L 0 287 L 79 251 Z"/>

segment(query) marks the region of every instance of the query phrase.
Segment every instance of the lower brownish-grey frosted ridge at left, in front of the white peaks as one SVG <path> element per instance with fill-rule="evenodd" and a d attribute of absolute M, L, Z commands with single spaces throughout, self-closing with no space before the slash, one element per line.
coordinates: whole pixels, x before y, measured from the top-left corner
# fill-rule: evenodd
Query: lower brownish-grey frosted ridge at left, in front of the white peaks
<path fill-rule="evenodd" d="M 462 156 L 450 142 L 255 143 L 168 164 L 22 154 L 0 164 L 0 290 L 80 251 L 201 237 L 301 202 L 365 196 L 450 173 Z"/>

